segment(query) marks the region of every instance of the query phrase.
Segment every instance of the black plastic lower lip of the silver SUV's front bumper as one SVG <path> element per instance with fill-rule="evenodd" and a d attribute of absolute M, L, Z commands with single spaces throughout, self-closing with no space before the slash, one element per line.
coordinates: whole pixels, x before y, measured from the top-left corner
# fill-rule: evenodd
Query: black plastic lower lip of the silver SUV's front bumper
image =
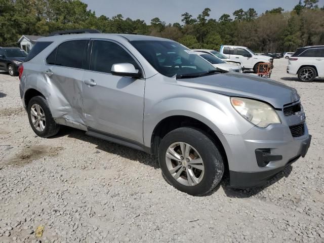
<path fill-rule="evenodd" d="M 275 168 L 273 170 L 261 171 L 261 172 L 237 172 L 229 171 L 230 175 L 230 185 L 236 188 L 245 188 L 245 187 L 256 187 L 264 185 L 277 173 L 284 170 L 286 167 L 293 164 L 300 157 L 305 157 L 308 148 L 310 146 L 311 135 L 308 135 L 308 138 L 303 140 L 301 143 L 298 155 L 288 160 L 287 164 L 282 167 Z"/>

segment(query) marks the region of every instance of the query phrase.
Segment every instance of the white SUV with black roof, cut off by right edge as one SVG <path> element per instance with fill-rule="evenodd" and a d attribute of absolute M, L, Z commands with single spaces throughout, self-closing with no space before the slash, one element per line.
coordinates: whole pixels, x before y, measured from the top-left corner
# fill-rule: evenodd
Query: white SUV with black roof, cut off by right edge
<path fill-rule="evenodd" d="M 302 82 L 311 82 L 315 77 L 324 77 L 324 46 L 298 48 L 289 58 L 287 72 L 297 74 Z"/>

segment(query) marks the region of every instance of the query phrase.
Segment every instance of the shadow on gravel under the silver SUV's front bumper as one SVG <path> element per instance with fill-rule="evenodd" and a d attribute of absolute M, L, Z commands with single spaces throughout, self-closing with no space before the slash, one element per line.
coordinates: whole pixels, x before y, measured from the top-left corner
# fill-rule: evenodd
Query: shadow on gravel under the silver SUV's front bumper
<path fill-rule="evenodd" d="M 254 188 L 232 188 L 229 185 L 229 178 L 225 177 L 221 183 L 221 186 L 225 192 L 225 194 L 228 197 L 234 197 L 234 198 L 248 198 L 251 196 L 254 196 L 258 194 L 259 192 L 263 191 L 265 188 L 273 185 L 274 183 L 278 182 L 284 177 L 288 177 L 290 173 L 292 172 L 293 167 L 290 165 L 287 168 L 285 168 L 283 171 L 276 174 L 273 178 L 269 180 L 265 185 L 260 187 L 254 187 Z M 216 188 L 215 188 L 216 189 Z M 215 190 L 214 189 L 214 190 Z"/>

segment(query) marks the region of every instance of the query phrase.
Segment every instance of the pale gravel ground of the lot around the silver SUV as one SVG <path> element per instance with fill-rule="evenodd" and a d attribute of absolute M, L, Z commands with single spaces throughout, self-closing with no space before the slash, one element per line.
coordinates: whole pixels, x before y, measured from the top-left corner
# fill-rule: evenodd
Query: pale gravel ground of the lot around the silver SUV
<path fill-rule="evenodd" d="M 0 73 L 0 242 L 324 242 L 324 79 L 274 65 L 272 78 L 301 95 L 307 156 L 262 188 L 223 181 L 203 197 L 168 185 L 143 152 L 70 128 L 35 136 L 18 78 Z"/>

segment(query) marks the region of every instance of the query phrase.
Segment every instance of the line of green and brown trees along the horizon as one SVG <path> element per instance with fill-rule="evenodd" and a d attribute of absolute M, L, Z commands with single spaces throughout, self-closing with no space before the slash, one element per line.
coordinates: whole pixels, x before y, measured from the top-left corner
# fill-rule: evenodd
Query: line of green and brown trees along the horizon
<path fill-rule="evenodd" d="M 292 11 L 278 7 L 258 14 L 239 9 L 210 18 L 205 8 L 193 17 L 181 15 L 181 23 L 153 18 L 96 16 L 79 0 L 0 0 L 0 46 L 18 45 L 22 34 L 47 35 L 67 29 L 93 28 L 103 33 L 136 33 L 174 39 L 188 48 L 218 50 L 220 45 L 247 46 L 256 52 L 287 52 L 307 45 L 324 45 L 324 7 L 318 0 L 300 1 Z"/>

